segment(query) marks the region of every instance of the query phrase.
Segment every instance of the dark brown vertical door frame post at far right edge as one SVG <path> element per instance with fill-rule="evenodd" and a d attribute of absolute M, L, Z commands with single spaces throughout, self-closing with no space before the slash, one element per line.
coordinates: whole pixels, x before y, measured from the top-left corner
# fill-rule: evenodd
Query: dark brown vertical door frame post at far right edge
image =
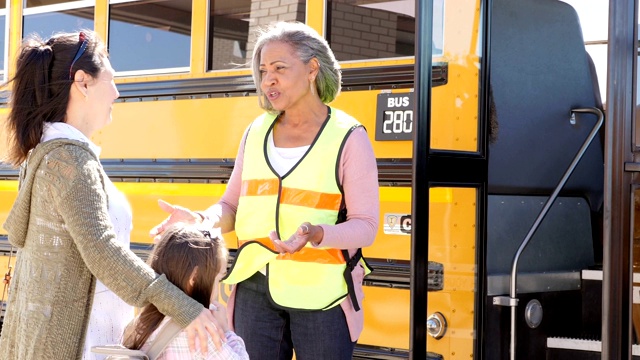
<path fill-rule="evenodd" d="M 631 144 L 638 1 L 610 0 L 605 121 L 602 359 L 631 359 Z"/>

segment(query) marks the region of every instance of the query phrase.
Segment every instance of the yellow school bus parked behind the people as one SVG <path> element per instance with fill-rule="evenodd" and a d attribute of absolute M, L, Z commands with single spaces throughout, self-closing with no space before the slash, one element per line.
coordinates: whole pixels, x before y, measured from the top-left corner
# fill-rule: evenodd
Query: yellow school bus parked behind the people
<path fill-rule="evenodd" d="M 27 34 L 89 28 L 107 42 L 121 96 L 92 140 L 144 257 L 166 216 L 158 199 L 204 209 L 224 192 L 262 112 L 247 66 L 254 30 L 305 22 L 342 67 L 331 105 L 366 127 L 378 163 L 354 358 L 627 359 L 640 354 L 627 3 L 585 13 L 557 0 L 10 0 L 0 59 L 7 80 Z M 609 18 L 612 39 L 589 33 Z M 0 224 L 17 188 L 0 163 Z M 225 240 L 233 254 L 234 234 Z M 0 271 L 14 250 L 0 229 Z"/>

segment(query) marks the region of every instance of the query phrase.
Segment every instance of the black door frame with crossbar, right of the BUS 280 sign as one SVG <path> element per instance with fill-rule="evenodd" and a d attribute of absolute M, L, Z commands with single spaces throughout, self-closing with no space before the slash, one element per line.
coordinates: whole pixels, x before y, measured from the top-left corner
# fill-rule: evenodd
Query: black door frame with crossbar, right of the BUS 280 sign
<path fill-rule="evenodd" d="M 479 329 L 484 314 L 484 252 L 487 203 L 487 133 L 488 133 L 488 31 L 487 9 L 490 0 L 481 0 L 482 56 L 480 57 L 480 101 L 477 152 L 431 149 L 431 78 L 433 0 L 416 1 L 415 93 L 416 120 L 413 137 L 411 227 L 411 295 L 409 358 L 427 359 L 427 275 L 429 258 L 429 190 L 433 187 L 475 188 L 476 203 L 476 299 L 474 330 Z M 477 332 L 476 332 L 477 333 Z M 476 356 L 481 354 L 482 334 L 477 333 Z"/>

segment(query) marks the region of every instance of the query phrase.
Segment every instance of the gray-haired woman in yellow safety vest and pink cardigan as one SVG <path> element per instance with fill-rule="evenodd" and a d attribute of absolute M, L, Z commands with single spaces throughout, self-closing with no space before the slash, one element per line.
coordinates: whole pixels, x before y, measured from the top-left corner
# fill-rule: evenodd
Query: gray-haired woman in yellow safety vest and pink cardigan
<path fill-rule="evenodd" d="M 177 221 L 211 221 L 239 241 L 229 274 L 235 331 L 252 360 L 351 359 L 362 331 L 361 248 L 378 228 L 378 172 L 362 125 L 328 106 L 340 69 L 300 23 L 259 34 L 252 60 L 266 113 L 246 130 L 222 199 L 196 213 L 160 202 Z M 348 209 L 348 211 L 347 211 Z M 282 240 L 281 240 L 282 239 Z"/>

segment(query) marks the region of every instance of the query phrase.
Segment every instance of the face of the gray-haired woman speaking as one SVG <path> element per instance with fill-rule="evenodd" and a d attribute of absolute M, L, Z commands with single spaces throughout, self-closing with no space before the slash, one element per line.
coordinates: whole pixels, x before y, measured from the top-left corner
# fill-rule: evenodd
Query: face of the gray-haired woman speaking
<path fill-rule="evenodd" d="M 308 106 L 314 99 L 311 80 L 317 70 L 316 61 L 304 64 L 293 47 L 283 42 L 267 43 L 260 52 L 260 88 L 278 111 Z"/>

